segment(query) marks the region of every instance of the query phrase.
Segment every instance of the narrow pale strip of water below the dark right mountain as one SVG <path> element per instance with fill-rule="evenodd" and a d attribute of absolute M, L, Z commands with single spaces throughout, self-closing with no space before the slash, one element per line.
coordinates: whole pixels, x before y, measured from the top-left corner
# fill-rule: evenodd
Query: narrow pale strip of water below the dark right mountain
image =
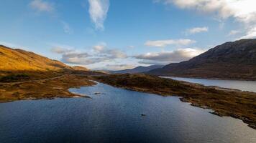
<path fill-rule="evenodd" d="M 206 86 L 218 86 L 229 89 L 239 89 L 242 91 L 256 92 L 256 81 L 239 81 L 239 80 L 219 80 L 219 79 L 194 79 L 182 77 L 165 77 L 185 82 L 204 84 Z"/>

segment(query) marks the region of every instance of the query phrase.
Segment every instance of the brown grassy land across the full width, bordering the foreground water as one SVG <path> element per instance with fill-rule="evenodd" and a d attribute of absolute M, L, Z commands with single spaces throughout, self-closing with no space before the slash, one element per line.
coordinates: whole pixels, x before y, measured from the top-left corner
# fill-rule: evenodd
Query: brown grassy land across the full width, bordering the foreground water
<path fill-rule="evenodd" d="M 146 74 L 108 74 L 104 76 L 68 74 L 47 81 L 2 84 L 0 85 L 0 103 L 26 99 L 90 98 L 72 93 L 69 89 L 93 86 L 97 82 L 137 92 L 147 92 L 165 97 L 180 97 L 181 102 L 189 102 L 195 107 L 212 109 L 214 112 L 211 114 L 221 117 L 241 119 L 249 127 L 256 129 L 255 92 L 242 92 L 236 89 L 212 86 L 206 87 L 202 84 L 176 81 Z"/>

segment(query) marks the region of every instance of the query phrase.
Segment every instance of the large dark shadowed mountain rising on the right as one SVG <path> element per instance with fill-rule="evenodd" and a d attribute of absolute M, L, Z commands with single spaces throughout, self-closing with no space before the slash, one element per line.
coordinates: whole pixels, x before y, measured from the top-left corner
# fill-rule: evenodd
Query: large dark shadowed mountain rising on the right
<path fill-rule="evenodd" d="M 168 64 L 147 73 L 174 77 L 256 80 L 256 39 L 227 42 L 188 61 Z"/>

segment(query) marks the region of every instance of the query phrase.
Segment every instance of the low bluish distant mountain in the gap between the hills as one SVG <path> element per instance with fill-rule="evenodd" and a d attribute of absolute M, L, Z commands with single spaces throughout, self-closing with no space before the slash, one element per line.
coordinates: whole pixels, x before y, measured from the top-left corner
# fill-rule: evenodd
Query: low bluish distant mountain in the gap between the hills
<path fill-rule="evenodd" d="M 152 69 L 157 69 L 161 67 L 163 67 L 163 65 L 137 66 L 134 69 L 124 69 L 121 71 L 110 71 L 110 72 L 113 74 L 125 74 L 125 73 L 134 74 L 134 73 L 142 73 L 142 72 L 150 71 Z"/>

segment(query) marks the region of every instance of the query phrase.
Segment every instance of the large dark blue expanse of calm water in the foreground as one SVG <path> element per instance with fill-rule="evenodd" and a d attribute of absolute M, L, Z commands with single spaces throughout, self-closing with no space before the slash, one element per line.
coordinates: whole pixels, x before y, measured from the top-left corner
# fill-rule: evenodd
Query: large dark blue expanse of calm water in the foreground
<path fill-rule="evenodd" d="M 105 84 L 70 91 L 92 99 L 0 104 L 0 142 L 256 142 L 256 130 L 241 120 L 209 114 L 178 97 Z"/>

